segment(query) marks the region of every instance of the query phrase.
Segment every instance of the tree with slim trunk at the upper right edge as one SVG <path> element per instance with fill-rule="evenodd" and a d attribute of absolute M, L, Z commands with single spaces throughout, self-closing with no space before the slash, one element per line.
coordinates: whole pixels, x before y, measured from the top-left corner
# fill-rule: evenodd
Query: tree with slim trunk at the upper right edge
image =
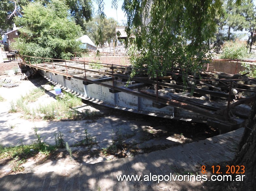
<path fill-rule="evenodd" d="M 253 33 L 256 30 L 256 9 L 253 1 L 246 0 L 241 6 L 234 8 L 228 18 L 228 24 L 234 30 L 245 29 L 251 35 L 248 38 L 248 44 L 250 47 L 249 53 L 251 53 L 251 48 L 253 44 Z"/>

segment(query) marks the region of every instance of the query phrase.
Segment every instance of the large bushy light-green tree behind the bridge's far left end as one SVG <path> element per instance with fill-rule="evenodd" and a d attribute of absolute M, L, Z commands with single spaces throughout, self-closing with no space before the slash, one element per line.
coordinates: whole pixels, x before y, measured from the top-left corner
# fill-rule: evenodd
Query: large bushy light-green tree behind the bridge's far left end
<path fill-rule="evenodd" d="M 16 17 L 21 36 L 12 43 L 23 55 L 44 58 L 69 59 L 71 52 L 79 51 L 81 27 L 76 25 L 63 1 L 52 0 L 29 3 L 23 7 L 23 16 Z"/>

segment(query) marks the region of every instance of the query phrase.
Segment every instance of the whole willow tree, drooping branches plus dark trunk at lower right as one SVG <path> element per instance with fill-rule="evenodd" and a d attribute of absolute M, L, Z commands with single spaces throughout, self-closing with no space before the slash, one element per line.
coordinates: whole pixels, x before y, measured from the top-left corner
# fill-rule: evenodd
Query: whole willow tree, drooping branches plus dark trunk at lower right
<path fill-rule="evenodd" d="M 231 1 L 231 0 L 230 0 Z M 104 16 L 103 0 L 99 13 Z M 117 0 L 112 4 L 116 5 Z M 236 1 L 236 5 L 241 3 Z M 174 66 L 196 73 L 208 58 L 209 39 L 216 30 L 214 18 L 221 13 L 221 0 L 124 0 L 133 67 L 147 67 L 149 75 Z M 187 43 L 190 40 L 191 43 Z M 132 74 L 134 75 L 134 73 Z M 256 190 L 256 99 L 252 106 L 233 165 L 244 165 L 246 178 L 226 185 L 230 190 Z M 219 185 L 219 184 L 218 184 Z M 217 188 L 216 190 L 219 190 Z"/>

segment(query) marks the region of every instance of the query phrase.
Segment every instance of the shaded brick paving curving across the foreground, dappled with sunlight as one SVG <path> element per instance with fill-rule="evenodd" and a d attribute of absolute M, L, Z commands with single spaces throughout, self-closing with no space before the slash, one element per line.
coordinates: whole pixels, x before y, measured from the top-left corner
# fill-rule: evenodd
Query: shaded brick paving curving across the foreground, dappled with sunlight
<path fill-rule="evenodd" d="M 0 179 L 0 190 L 172 190 L 175 182 L 118 181 L 119 175 L 170 175 L 196 173 L 234 157 L 244 128 L 199 142 L 188 143 L 133 158 L 78 166 L 68 172 L 8 175 Z M 165 187 L 164 187 L 165 186 Z M 196 186 L 196 187 L 195 187 Z M 162 189 L 166 188 L 166 189 Z M 204 190 L 203 184 L 185 190 Z M 180 189 L 181 190 L 181 189 Z"/>

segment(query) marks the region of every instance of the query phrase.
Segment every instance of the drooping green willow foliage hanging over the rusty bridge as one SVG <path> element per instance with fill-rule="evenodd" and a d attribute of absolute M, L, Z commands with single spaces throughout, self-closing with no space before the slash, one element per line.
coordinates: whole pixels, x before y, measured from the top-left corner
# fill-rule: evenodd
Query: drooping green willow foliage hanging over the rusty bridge
<path fill-rule="evenodd" d="M 151 76 L 172 67 L 183 68 L 183 74 L 196 72 L 208 58 L 216 31 L 212 18 L 221 5 L 218 0 L 124 1 L 132 65 L 146 66 Z"/>

